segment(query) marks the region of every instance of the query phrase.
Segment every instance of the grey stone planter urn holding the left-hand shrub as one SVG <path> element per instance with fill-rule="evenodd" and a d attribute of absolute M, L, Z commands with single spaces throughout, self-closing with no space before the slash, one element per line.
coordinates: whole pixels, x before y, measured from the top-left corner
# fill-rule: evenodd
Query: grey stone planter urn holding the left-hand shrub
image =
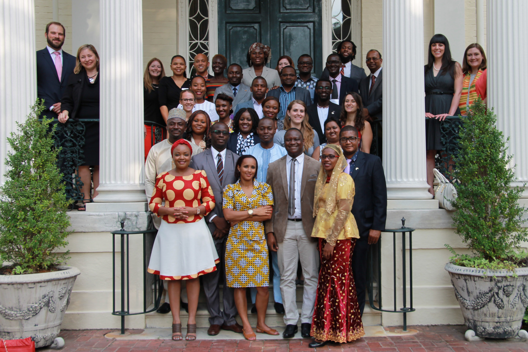
<path fill-rule="evenodd" d="M 75 267 L 56 268 L 59 271 L 0 275 L 0 338 L 32 337 L 35 347 L 53 344 L 81 273 Z"/>

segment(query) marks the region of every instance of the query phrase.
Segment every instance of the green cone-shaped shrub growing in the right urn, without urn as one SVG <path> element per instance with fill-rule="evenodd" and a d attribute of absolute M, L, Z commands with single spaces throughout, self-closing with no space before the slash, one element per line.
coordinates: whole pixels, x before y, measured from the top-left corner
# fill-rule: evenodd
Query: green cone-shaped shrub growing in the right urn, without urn
<path fill-rule="evenodd" d="M 516 267 L 526 254 L 518 254 L 515 249 L 528 239 L 528 232 L 522 227 L 526 208 L 517 202 L 523 189 L 511 187 L 515 181 L 514 172 L 508 167 L 512 156 L 506 153 L 493 110 L 486 110 L 482 101 L 475 102 L 461 120 L 460 153 L 451 173 L 457 180 L 458 192 L 453 220 L 456 233 L 474 256 L 469 259 L 470 256 L 458 255 L 451 262 L 482 268 L 483 260 L 500 261 L 507 268 L 512 263 Z"/>

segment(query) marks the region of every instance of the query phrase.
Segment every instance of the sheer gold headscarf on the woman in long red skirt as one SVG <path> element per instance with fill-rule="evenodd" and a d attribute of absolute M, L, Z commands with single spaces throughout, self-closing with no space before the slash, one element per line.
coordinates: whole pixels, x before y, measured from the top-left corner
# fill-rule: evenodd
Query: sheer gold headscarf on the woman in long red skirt
<path fill-rule="evenodd" d="M 327 193 L 327 199 L 325 204 L 325 210 L 328 214 L 332 214 L 335 211 L 335 205 L 337 201 L 337 178 L 339 177 L 339 174 L 343 172 L 343 170 L 348 165 L 346 162 L 346 158 L 343 155 L 343 149 L 341 149 L 340 146 L 337 146 L 335 144 L 327 144 L 324 149 L 330 148 L 333 149 L 339 158 L 337 159 L 337 163 L 334 166 L 334 169 L 332 170 L 332 176 L 330 177 L 330 182 L 328 183 L 328 187 L 330 188 L 329 192 Z M 323 191 L 323 188 L 326 184 L 326 178 L 328 177 L 328 174 L 326 173 L 326 170 L 323 168 L 323 163 L 321 163 L 321 166 L 319 168 L 319 176 L 317 177 L 317 182 L 315 183 L 315 195 L 314 195 L 314 217 L 317 216 L 317 211 L 319 210 L 319 195 Z"/>

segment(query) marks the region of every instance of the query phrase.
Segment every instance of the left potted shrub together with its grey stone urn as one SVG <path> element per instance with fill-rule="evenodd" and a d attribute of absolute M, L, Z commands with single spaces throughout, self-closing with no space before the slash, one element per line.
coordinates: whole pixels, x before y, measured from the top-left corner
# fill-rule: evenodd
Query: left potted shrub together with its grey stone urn
<path fill-rule="evenodd" d="M 59 334 L 79 269 L 61 266 L 67 253 L 69 202 L 56 165 L 50 121 L 35 104 L 8 142 L 6 182 L 0 188 L 0 338 L 32 337 L 35 347 Z M 59 340 L 55 343 L 60 343 Z M 63 344 L 63 341 L 62 341 Z"/>

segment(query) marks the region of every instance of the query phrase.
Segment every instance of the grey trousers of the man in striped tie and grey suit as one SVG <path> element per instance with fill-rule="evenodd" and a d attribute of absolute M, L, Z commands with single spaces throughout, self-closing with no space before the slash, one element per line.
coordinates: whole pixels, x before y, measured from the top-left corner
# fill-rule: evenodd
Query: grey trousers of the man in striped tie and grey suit
<path fill-rule="evenodd" d="M 216 271 L 202 276 L 202 285 L 205 292 L 205 299 L 207 303 L 207 310 L 209 311 L 209 324 L 218 325 L 233 325 L 235 315 L 237 314 L 237 307 L 234 305 L 234 289 L 225 284 L 225 243 L 228 236 L 223 239 L 214 240 L 216 253 L 218 253 L 220 263 L 216 264 Z M 223 308 L 220 310 L 220 275 L 223 277 Z"/>

